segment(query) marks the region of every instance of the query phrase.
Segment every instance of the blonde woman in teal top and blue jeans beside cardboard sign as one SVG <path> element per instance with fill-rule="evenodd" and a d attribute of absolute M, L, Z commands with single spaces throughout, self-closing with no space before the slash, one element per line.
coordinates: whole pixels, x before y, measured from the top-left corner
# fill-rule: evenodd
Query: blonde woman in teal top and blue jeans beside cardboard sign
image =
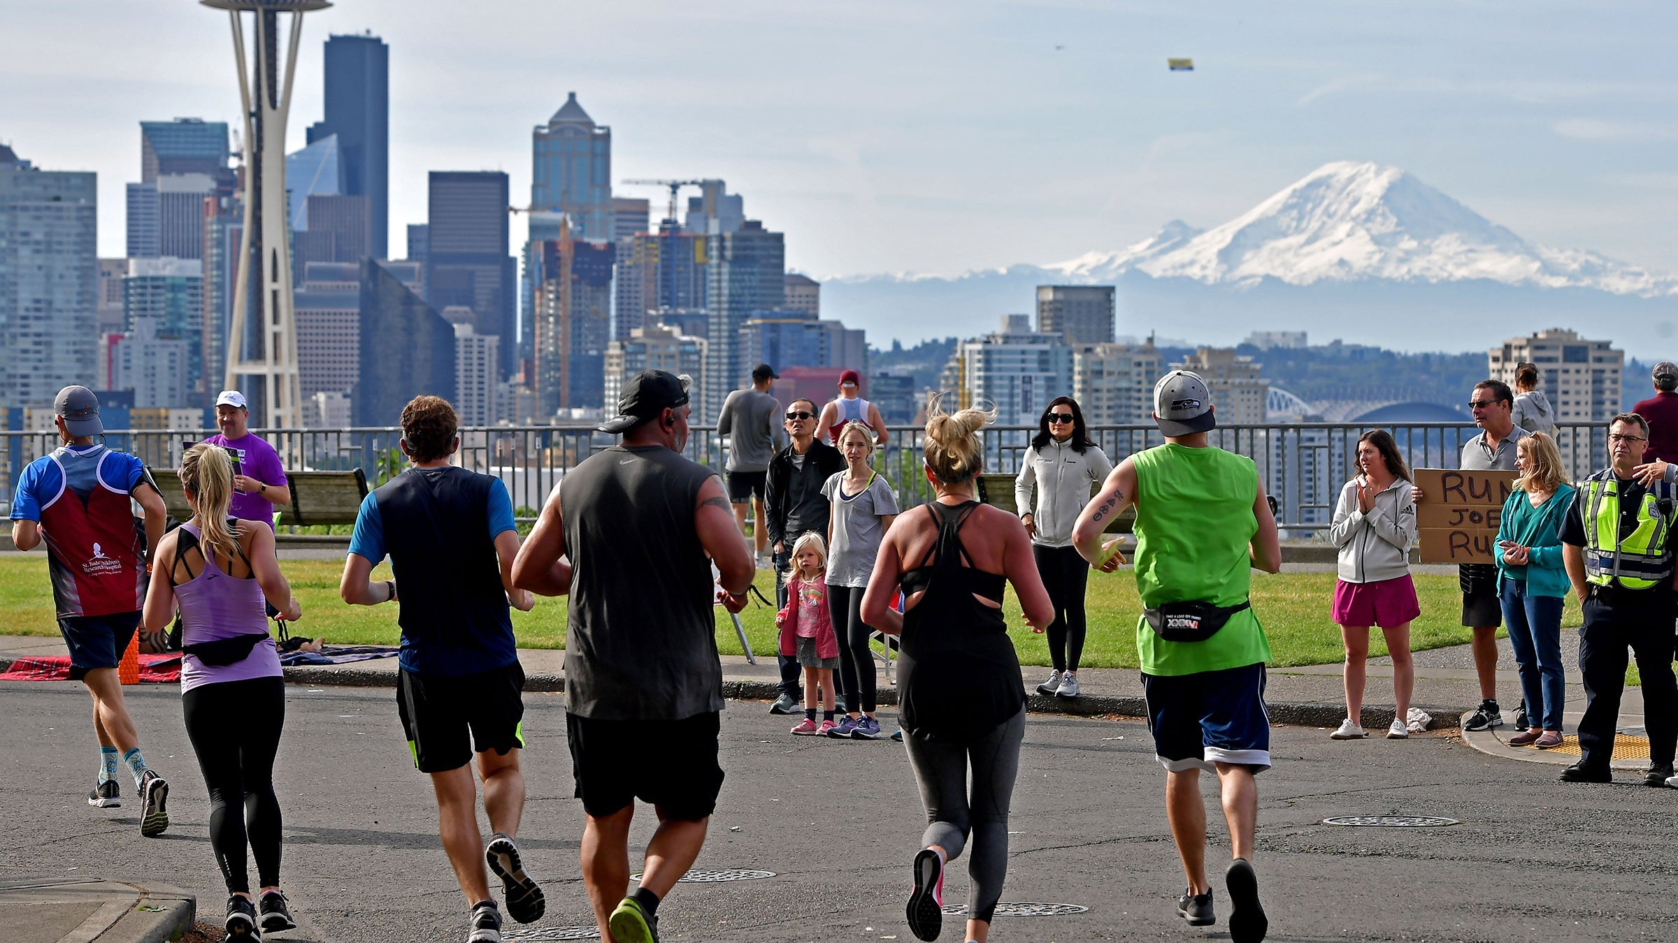
<path fill-rule="evenodd" d="M 1562 518 L 1574 500 L 1562 453 L 1545 433 L 1520 440 L 1515 455 L 1515 490 L 1503 502 L 1497 529 L 1497 589 L 1503 602 L 1509 644 L 1515 649 L 1520 691 L 1535 720 L 1509 738 L 1510 747 L 1540 750 L 1562 745 L 1562 602 L 1567 569 L 1562 565 Z"/>

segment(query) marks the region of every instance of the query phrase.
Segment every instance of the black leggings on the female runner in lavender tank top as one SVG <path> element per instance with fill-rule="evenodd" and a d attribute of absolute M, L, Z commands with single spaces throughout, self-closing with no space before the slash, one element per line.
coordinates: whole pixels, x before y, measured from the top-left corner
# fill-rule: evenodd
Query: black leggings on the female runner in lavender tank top
<path fill-rule="evenodd" d="M 210 789 L 210 846 L 227 891 L 250 893 L 245 841 L 262 888 L 280 884 L 280 800 L 274 755 L 285 727 L 285 681 L 250 678 L 186 691 L 186 737 Z M 240 807 L 243 805 L 243 814 Z"/>

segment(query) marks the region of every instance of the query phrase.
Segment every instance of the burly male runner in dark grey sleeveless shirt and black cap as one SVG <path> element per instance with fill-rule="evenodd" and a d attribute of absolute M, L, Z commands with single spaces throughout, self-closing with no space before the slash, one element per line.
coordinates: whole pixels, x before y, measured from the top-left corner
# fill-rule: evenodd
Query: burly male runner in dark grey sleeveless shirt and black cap
<path fill-rule="evenodd" d="M 602 940 L 648 943 L 658 940 L 659 901 L 705 846 L 723 785 L 713 592 L 738 612 L 753 565 L 717 473 L 681 456 L 688 379 L 641 371 L 618 413 L 601 431 L 623 433 L 623 445 L 565 473 L 513 581 L 571 594 L 565 735 L 587 815 L 582 883 Z M 624 896 L 636 797 L 656 809 L 658 831 L 641 886 Z"/>

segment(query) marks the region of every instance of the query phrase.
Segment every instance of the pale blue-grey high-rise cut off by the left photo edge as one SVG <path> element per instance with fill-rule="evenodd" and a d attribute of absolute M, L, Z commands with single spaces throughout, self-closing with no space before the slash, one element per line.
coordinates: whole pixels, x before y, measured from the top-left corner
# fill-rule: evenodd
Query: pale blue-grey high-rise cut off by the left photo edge
<path fill-rule="evenodd" d="M 0 406 L 50 406 L 96 374 L 92 173 L 45 171 L 0 144 Z"/>

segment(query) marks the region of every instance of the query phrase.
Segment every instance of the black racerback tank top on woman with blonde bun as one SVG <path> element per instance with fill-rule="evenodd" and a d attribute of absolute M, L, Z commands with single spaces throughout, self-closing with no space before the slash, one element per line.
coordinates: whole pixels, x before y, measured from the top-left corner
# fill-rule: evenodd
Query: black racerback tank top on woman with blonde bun
<path fill-rule="evenodd" d="M 903 592 L 925 594 L 903 614 L 898 695 L 903 728 L 965 740 L 995 730 L 1025 706 L 1020 661 L 1002 609 L 1007 579 L 968 565 L 961 525 L 978 502 L 930 503 L 938 540 L 921 565 L 901 577 Z"/>

